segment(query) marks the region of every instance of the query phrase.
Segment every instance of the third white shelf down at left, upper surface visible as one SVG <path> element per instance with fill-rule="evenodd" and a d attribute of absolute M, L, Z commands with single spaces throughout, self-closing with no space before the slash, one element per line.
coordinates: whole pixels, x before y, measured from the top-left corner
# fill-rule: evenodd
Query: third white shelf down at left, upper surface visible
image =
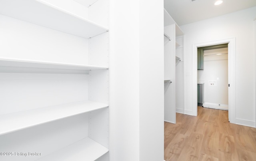
<path fill-rule="evenodd" d="M 79 101 L 0 115 L 0 135 L 108 107 L 94 101 Z"/>

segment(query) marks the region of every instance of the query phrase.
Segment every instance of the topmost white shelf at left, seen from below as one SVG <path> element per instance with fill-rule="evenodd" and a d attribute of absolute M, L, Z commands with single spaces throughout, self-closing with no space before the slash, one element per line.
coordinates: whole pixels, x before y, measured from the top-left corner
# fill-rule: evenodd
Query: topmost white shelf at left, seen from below
<path fill-rule="evenodd" d="M 44 0 L 0 0 L 0 14 L 83 38 L 108 31 L 103 26 Z"/>

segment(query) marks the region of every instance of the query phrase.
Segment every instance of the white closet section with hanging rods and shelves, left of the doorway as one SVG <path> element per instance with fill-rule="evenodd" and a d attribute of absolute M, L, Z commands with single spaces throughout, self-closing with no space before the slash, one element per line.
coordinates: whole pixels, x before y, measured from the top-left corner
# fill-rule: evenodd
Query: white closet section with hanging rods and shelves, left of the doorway
<path fill-rule="evenodd" d="M 164 9 L 164 121 L 170 123 L 184 113 L 183 44 L 182 30 Z"/>

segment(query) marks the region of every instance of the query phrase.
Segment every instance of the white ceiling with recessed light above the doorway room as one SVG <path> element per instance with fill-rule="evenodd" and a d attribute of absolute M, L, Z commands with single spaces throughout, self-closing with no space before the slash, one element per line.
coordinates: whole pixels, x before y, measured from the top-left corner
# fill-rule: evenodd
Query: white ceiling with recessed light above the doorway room
<path fill-rule="evenodd" d="M 178 26 L 182 26 L 256 6 L 256 0 L 223 0 L 218 6 L 214 5 L 215 2 L 216 0 L 164 0 L 164 8 Z"/>

